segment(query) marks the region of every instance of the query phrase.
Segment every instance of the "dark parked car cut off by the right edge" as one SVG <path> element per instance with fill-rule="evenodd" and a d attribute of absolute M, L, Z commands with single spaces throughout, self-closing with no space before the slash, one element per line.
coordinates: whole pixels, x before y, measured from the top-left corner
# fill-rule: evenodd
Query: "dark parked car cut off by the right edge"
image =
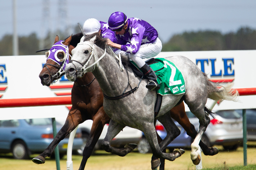
<path fill-rule="evenodd" d="M 236 110 L 241 116 L 242 109 Z M 256 140 L 256 109 L 246 109 L 247 140 Z"/>

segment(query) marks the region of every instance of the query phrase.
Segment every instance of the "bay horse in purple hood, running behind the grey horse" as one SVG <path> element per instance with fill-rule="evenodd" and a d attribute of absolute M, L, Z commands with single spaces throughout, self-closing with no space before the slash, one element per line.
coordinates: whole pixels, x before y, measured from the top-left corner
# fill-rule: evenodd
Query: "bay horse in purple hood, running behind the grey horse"
<path fill-rule="evenodd" d="M 63 44 L 68 46 L 70 55 L 71 51 L 80 42 L 82 36 L 82 33 L 78 33 L 66 38 L 63 42 Z M 58 41 L 59 37 L 56 36 L 54 44 Z M 50 86 L 53 81 L 57 80 L 57 77 L 52 77 L 52 75 L 55 75 L 59 71 L 59 69 L 58 65 L 56 65 L 56 63 L 52 60 L 47 60 L 46 64 L 51 65 L 48 65 L 48 68 L 44 67 L 40 72 L 39 77 L 41 79 L 42 85 Z M 104 125 L 110 122 L 110 117 L 106 115 L 103 109 L 103 93 L 99 87 L 98 81 L 94 80 L 94 78 L 95 77 L 93 73 L 88 72 L 85 73 L 82 78 L 76 79 L 71 91 L 72 107 L 69 111 L 67 120 L 52 141 L 52 143 L 45 149 L 45 151 L 39 156 L 33 158 L 34 163 L 45 163 L 44 158 L 47 156 L 51 156 L 58 143 L 62 139 L 64 139 L 71 131 L 73 131 L 78 124 L 83 123 L 85 120 L 93 120 L 93 125 L 90 131 L 88 141 L 86 142 L 86 146 L 83 151 L 83 159 L 79 169 L 83 170 L 85 168 L 87 159 L 93 152 L 93 149 L 101 135 Z M 168 112 L 168 114 L 184 128 L 184 130 L 190 137 L 196 137 L 197 131 L 195 130 L 194 125 L 189 122 L 189 119 L 185 113 L 185 107 L 183 102 L 173 107 L 170 112 Z M 179 134 L 176 134 L 176 136 L 178 135 Z M 162 139 L 159 137 L 158 134 L 157 137 L 160 143 Z M 215 155 L 218 153 L 218 149 L 208 148 L 208 146 L 206 146 L 202 141 L 200 141 L 199 145 L 205 155 Z M 165 151 L 165 149 L 163 149 L 163 151 Z M 152 169 L 156 169 L 159 164 L 159 159 L 153 155 Z M 164 169 L 164 165 L 164 159 L 161 159 L 160 170 Z"/>

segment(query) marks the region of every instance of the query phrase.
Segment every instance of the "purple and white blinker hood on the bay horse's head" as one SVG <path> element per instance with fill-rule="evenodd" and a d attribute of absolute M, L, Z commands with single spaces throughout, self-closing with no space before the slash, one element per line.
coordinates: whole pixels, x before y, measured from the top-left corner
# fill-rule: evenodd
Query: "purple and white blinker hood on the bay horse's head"
<path fill-rule="evenodd" d="M 68 49 L 68 46 L 63 45 L 62 42 L 64 42 L 64 41 L 62 41 L 62 40 L 58 41 L 57 43 L 55 43 L 52 46 L 52 48 L 49 51 L 47 51 L 45 53 L 45 57 L 47 58 L 46 61 L 52 60 L 59 65 L 59 67 L 60 67 L 60 69 L 58 71 L 59 73 L 61 72 L 61 70 L 64 71 L 65 67 L 69 63 L 69 49 Z M 60 60 L 57 57 L 58 52 L 63 52 L 63 54 L 64 54 L 63 59 Z M 47 57 L 47 55 L 48 55 L 48 57 Z"/>

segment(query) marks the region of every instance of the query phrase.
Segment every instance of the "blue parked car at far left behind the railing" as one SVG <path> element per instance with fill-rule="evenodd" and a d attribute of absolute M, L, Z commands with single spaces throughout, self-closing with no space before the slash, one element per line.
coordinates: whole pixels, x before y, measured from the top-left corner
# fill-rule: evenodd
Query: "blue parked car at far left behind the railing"
<path fill-rule="evenodd" d="M 57 132 L 61 125 L 56 123 Z M 81 129 L 77 129 L 73 151 L 81 149 Z M 59 143 L 60 157 L 67 153 L 68 137 Z M 32 153 L 42 153 L 53 141 L 51 118 L 0 120 L 0 153 L 13 153 L 15 159 L 26 159 Z"/>

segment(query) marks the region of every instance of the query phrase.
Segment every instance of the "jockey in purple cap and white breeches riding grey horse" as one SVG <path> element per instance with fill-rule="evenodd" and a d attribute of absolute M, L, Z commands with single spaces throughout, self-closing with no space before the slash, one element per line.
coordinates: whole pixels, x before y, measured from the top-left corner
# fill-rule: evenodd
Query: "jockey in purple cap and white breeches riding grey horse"
<path fill-rule="evenodd" d="M 149 23 L 139 18 L 127 18 L 122 12 L 115 12 L 109 17 L 109 29 L 115 31 L 117 42 L 108 40 L 108 45 L 129 53 L 129 58 L 137 64 L 148 78 L 146 88 L 158 90 L 155 72 L 142 58 L 155 57 L 162 50 L 158 33 Z M 116 52 L 118 52 L 116 51 Z"/>

